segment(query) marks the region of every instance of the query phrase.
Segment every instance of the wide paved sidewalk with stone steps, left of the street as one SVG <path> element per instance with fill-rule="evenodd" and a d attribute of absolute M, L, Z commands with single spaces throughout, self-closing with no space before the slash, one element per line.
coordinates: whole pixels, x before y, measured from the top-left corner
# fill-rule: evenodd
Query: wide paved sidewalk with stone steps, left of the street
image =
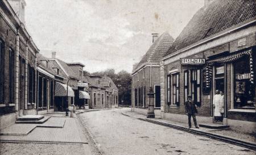
<path fill-rule="evenodd" d="M 92 154 L 76 115 L 47 116 L 51 118 L 43 124 L 13 124 L 3 129 L 0 154 Z"/>

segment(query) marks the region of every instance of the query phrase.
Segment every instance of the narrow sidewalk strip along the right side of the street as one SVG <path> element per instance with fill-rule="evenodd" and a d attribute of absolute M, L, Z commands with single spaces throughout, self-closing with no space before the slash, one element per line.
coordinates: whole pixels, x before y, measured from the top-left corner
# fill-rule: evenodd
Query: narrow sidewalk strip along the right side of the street
<path fill-rule="evenodd" d="M 122 114 L 131 116 L 137 119 L 147 119 L 146 115 L 138 114 L 137 112 L 132 112 L 131 110 L 122 110 Z M 167 123 L 167 124 L 176 125 L 178 127 L 183 127 L 183 128 L 188 127 L 187 123 L 173 122 L 170 120 L 161 119 L 160 116 L 155 116 L 155 119 L 147 119 L 147 120 L 154 120 L 156 122 Z M 201 131 L 205 133 L 212 133 L 218 136 L 221 135 L 222 137 L 237 139 L 237 140 L 245 141 L 246 143 L 252 143 L 256 145 L 255 135 L 233 131 L 232 129 L 209 129 L 209 128 L 203 128 L 203 127 L 200 127 L 199 129 L 197 129 L 195 127 L 192 127 L 192 130 Z"/>

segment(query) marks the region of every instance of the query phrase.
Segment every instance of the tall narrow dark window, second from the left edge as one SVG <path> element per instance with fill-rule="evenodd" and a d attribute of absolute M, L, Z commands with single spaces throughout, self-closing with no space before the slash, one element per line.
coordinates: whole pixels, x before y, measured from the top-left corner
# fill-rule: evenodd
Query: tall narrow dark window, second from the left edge
<path fill-rule="evenodd" d="M 9 49 L 9 103 L 14 103 L 14 50 Z"/>

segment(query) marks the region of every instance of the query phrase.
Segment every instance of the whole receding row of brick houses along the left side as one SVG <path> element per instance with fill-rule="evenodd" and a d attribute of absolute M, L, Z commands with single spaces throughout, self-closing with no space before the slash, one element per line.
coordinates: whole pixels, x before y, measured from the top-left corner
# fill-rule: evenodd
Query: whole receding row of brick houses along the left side
<path fill-rule="evenodd" d="M 18 116 L 77 108 L 114 108 L 118 89 L 108 76 L 85 74 L 80 62 L 39 53 L 24 25 L 24 0 L 0 1 L 0 129 Z"/>

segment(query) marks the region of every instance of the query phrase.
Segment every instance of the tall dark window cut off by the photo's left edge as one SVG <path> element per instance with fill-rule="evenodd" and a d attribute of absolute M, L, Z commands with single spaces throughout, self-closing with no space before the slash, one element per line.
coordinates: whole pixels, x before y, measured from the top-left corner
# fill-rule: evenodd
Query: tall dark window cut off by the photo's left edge
<path fill-rule="evenodd" d="M 3 41 L 0 40 L 0 104 L 4 104 L 4 92 L 5 92 L 4 91 L 4 81 L 5 81 L 4 56 L 5 56 L 5 47 L 4 47 Z"/>

